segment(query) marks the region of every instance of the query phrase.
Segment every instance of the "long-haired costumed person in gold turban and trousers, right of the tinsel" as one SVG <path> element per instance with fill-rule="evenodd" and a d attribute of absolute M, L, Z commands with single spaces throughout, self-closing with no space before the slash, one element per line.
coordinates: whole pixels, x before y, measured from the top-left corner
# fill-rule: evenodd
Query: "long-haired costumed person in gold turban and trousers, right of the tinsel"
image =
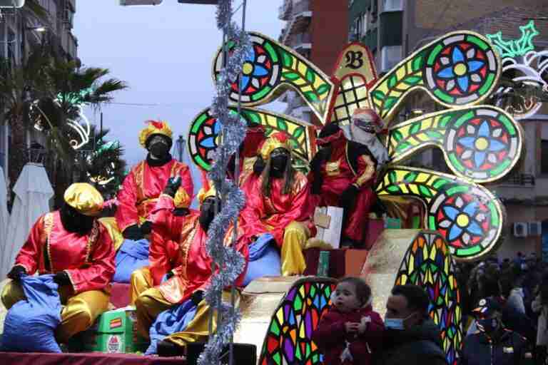
<path fill-rule="evenodd" d="M 262 170 L 260 178 L 242 186 L 247 197 L 260 196 L 260 221 L 280 247 L 284 276 L 303 274 L 303 250 L 308 238 L 315 235 L 310 186 L 306 176 L 291 163 L 288 135 L 274 133 L 263 143 L 260 159 L 255 163 L 255 171 Z M 258 168 L 259 164 L 264 168 Z"/>

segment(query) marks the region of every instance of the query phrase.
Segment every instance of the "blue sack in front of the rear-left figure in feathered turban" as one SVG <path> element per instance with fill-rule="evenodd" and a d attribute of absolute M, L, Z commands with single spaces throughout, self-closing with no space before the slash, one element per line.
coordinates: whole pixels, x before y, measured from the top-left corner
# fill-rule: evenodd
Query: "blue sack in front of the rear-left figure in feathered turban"
<path fill-rule="evenodd" d="M 124 240 L 116 253 L 113 282 L 130 282 L 131 273 L 148 266 L 148 240 Z"/>

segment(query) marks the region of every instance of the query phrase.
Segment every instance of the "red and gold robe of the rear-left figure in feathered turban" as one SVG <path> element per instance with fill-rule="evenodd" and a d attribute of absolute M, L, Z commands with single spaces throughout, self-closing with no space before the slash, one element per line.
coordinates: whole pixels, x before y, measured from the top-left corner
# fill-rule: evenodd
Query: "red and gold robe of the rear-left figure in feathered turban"
<path fill-rule="evenodd" d="M 131 169 L 118 192 L 116 222 L 121 232 L 131 225 L 140 224 L 148 217 L 168 179 L 175 176 L 181 176 L 181 207 L 188 207 L 191 205 L 194 186 L 191 170 L 187 165 L 171 160 L 162 166 L 150 166 L 145 160 Z"/>

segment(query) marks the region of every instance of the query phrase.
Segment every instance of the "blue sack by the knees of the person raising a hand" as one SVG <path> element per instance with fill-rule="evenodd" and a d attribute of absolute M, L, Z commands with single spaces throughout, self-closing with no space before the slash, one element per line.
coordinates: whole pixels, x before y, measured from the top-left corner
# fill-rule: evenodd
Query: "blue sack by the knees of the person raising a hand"
<path fill-rule="evenodd" d="M 196 316 L 197 309 L 198 307 L 194 305 L 192 300 L 188 299 L 186 302 L 158 314 L 150 330 L 151 345 L 148 346 L 145 354 L 156 354 L 158 352 L 158 342 L 170 334 L 184 331 Z"/>

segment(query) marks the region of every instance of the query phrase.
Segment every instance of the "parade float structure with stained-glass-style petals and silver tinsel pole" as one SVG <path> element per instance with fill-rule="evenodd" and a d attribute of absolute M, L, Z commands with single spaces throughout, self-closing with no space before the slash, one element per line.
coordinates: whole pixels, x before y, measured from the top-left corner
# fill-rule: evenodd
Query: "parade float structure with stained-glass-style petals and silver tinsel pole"
<path fill-rule="evenodd" d="M 229 202 L 213 222 L 208 242 L 210 255 L 226 271 L 220 272 L 205 296 L 211 307 L 223 313 L 223 322 L 218 336 L 211 336 L 205 346 L 201 361 L 218 358 L 233 339 L 255 344 L 261 365 L 322 364 L 323 356 L 311 337 L 330 307 L 335 279 L 257 279 L 241 293 L 241 317 L 234 301 L 227 305 L 220 299 L 222 288 L 241 269 L 238 255 L 223 251 L 219 238 L 223 225 L 238 216 L 242 205 L 238 187 L 223 185 L 226 165 L 243 140 L 246 124 L 263 125 L 267 135 L 287 133 L 293 153 L 306 164 L 313 158 L 323 125 L 345 127 L 356 109 L 370 108 L 382 120 L 377 138 L 390 157 L 377 171 L 375 192 L 389 215 L 404 224 L 402 229 L 384 230 L 377 238 L 361 276 L 372 287 L 373 307 L 382 314 L 393 285 L 424 287 L 430 296 L 430 317 L 442 330 L 447 361 L 457 364 L 463 333 L 455 262 L 486 257 L 502 242 L 504 205 L 484 184 L 504 178 L 522 158 L 521 126 L 506 110 L 487 103 L 497 91 L 503 69 L 499 51 L 480 34 L 455 31 L 418 49 L 379 77 L 368 48 L 350 43 L 327 75 L 272 38 L 229 26 L 229 3 L 219 5 L 219 28 L 228 41 L 213 57 L 218 93 L 213 106 L 191 121 L 187 138 L 191 159 L 210 172 L 221 197 Z M 312 122 L 258 108 L 288 89 L 312 110 Z M 435 103 L 436 109 L 402 118 L 400 109 L 415 93 Z M 450 173 L 405 165 L 428 148 L 442 152 Z M 123 364 L 124 360 L 116 361 Z"/>

